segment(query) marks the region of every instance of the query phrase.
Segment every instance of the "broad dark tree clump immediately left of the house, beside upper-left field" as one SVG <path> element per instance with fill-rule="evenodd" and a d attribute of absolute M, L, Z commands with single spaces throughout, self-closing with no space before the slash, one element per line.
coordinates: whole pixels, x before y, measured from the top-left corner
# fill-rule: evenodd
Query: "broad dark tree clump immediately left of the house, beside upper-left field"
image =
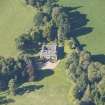
<path fill-rule="evenodd" d="M 39 44 L 39 40 L 42 38 L 42 36 L 41 33 L 35 32 L 34 34 L 36 34 L 37 36 L 30 35 L 30 33 L 25 33 L 16 38 L 17 48 L 23 53 L 38 52 L 41 47 L 41 45 Z"/>

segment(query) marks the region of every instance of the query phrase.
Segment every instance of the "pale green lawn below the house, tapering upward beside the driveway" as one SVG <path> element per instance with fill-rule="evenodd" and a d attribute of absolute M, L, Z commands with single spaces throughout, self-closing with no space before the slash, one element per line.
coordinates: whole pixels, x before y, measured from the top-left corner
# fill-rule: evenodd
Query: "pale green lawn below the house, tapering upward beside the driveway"
<path fill-rule="evenodd" d="M 8 105 L 69 105 L 70 81 L 65 72 L 64 62 L 65 60 L 60 62 L 53 75 L 39 82 L 25 83 L 21 86 L 44 85 L 44 87 L 15 97 L 8 96 L 14 100 L 14 103 Z"/>

